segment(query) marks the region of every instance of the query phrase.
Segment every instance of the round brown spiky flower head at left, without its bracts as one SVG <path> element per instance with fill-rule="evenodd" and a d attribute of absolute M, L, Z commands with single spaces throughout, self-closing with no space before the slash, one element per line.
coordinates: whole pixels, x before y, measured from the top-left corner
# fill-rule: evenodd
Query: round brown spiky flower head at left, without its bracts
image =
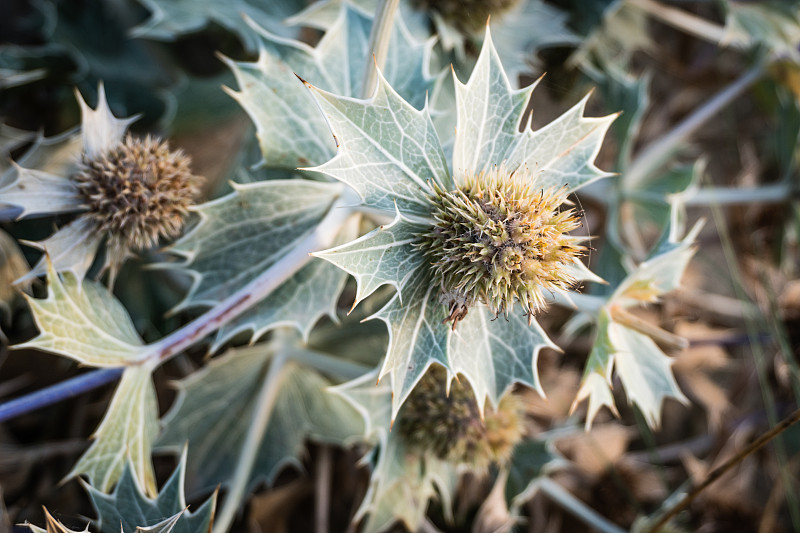
<path fill-rule="evenodd" d="M 107 233 L 109 254 L 155 246 L 176 237 L 198 193 L 201 178 L 180 150 L 150 136 L 130 134 L 106 152 L 84 154 L 72 176 L 86 215 Z"/>

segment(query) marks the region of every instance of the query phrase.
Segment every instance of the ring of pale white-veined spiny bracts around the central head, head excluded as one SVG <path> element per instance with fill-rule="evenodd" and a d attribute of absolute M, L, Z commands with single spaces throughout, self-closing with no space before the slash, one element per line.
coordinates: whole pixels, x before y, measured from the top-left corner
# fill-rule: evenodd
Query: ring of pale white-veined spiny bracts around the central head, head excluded
<path fill-rule="evenodd" d="M 397 212 L 390 226 L 319 254 L 356 277 L 363 285 L 359 298 L 382 283 L 398 289 L 374 316 L 390 331 L 380 375 L 391 375 L 393 415 L 432 363 L 447 367 L 451 378 L 463 374 L 481 407 L 487 398 L 496 405 L 514 382 L 538 388 L 536 358 L 541 348 L 552 346 L 538 325 L 528 327 L 518 316 L 490 323 L 493 317 L 482 307 L 472 309 L 455 331 L 442 323 L 447 312 L 439 301 L 441 288 L 432 283 L 422 258 L 403 258 L 422 255 L 411 241 L 432 224 L 430 184 L 449 190 L 500 165 L 529 176 L 537 188 L 574 190 L 607 175 L 593 160 L 614 117 L 583 117 L 584 100 L 541 130 L 520 132 L 533 88 L 513 89 L 488 32 L 484 42 L 469 82 L 456 82 L 454 178 L 427 110 L 403 102 L 385 79 L 368 100 L 311 87 L 339 140 L 334 159 L 314 170 L 355 188 L 366 207 Z M 401 272 L 402 263 L 420 268 Z"/>

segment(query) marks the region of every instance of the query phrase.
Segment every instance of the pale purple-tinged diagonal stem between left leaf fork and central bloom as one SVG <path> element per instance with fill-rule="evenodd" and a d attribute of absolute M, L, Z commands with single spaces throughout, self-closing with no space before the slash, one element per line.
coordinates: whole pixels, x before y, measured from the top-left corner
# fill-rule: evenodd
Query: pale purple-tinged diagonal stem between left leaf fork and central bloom
<path fill-rule="evenodd" d="M 349 207 L 354 203 L 351 195 L 343 194 L 331 206 L 328 214 L 316 229 L 299 241 L 281 259 L 189 324 L 149 345 L 142 360 L 155 359 L 163 363 L 266 298 L 312 259 L 310 253 L 333 244 L 341 227 L 354 213 L 353 208 Z"/>

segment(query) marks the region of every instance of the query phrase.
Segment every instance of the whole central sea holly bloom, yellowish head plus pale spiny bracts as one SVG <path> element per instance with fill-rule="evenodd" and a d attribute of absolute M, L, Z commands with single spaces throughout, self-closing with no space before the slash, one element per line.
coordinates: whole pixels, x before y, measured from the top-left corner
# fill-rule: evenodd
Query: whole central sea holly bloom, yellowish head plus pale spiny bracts
<path fill-rule="evenodd" d="M 456 82 L 458 122 L 447 161 L 427 109 L 380 77 L 354 100 L 309 84 L 339 142 L 315 167 L 358 191 L 391 224 L 318 253 L 356 277 L 356 303 L 383 284 L 395 297 L 386 322 L 392 415 L 432 364 L 460 374 L 480 409 L 515 383 L 540 389 L 536 359 L 553 343 L 534 320 L 550 293 L 593 275 L 580 262 L 569 193 L 607 173 L 594 166 L 614 116 L 583 115 L 586 99 L 548 126 L 523 122 L 534 86 L 514 90 L 487 31 L 466 84 Z M 524 130 L 520 127 L 524 125 Z"/>

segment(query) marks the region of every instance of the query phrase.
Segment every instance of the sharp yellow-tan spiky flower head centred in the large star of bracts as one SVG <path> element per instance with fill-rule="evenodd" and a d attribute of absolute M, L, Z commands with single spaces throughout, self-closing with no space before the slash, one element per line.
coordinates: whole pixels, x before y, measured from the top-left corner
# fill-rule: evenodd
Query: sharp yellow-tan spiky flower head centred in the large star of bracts
<path fill-rule="evenodd" d="M 500 166 L 454 191 L 433 189 L 436 223 L 416 246 L 433 266 L 453 327 L 476 302 L 497 315 L 518 300 L 531 318 L 547 293 L 577 281 L 572 266 L 585 247 L 567 235 L 581 223 L 574 209 L 560 208 L 566 187 L 537 190 L 523 169 Z"/>

